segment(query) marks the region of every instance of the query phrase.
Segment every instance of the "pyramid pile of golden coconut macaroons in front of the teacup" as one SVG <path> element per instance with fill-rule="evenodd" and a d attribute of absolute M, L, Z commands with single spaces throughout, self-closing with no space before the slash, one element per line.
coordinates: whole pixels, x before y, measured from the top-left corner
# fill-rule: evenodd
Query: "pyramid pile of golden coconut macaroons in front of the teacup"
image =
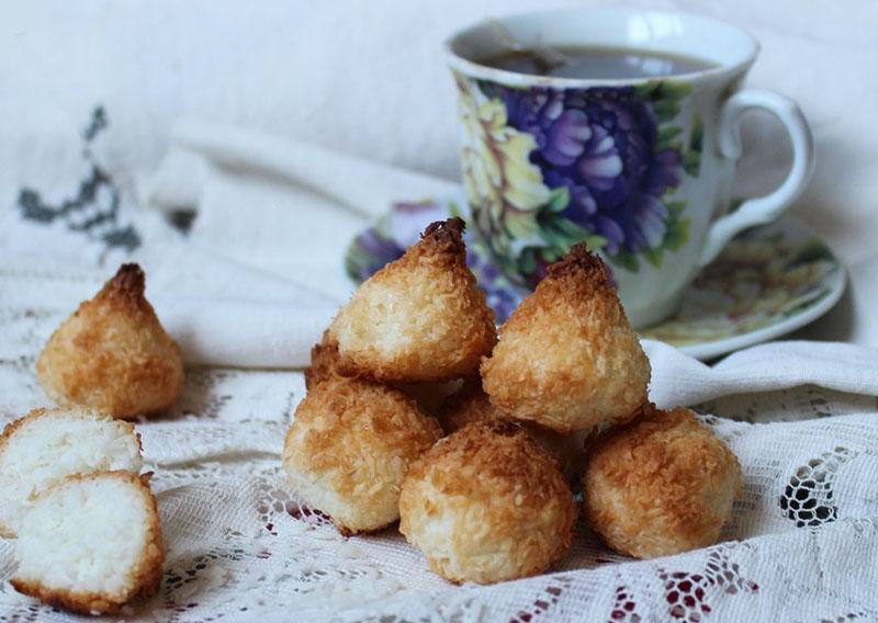
<path fill-rule="evenodd" d="M 714 542 L 741 468 L 690 411 L 649 403 L 649 360 L 600 259 L 571 249 L 498 339 L 462 230 L 427 227 L 314 347 L 283 455 L 299 496 L 348 534 L 398 519 L 455 582 L 563 558 L 579 478 L 586 520 L 622 553 Z"/>

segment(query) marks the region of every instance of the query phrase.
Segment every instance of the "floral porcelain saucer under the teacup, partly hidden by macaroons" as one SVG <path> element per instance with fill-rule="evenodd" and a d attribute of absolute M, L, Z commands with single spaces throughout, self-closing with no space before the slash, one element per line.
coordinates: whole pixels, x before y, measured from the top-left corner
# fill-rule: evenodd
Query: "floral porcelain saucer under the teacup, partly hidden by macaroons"
<path fill-rule="evenodd" d="M 450 216 L 465 220 L 465 205 L 462 196 L 394 204 L 350 242 L 345 270 L 361 283 L 402 257 L 429 223 Z M 466 263 L 500 324 L 528 292 L 500 273 L 473 227 L 464 240 Z M 784 217 L 729 242 L 684 291 L 676 314 L 640 335 L 708 360 L 807 325 L 829 312 L 844 286 L 844 267 L 830 248 L 808 227 Z"/>

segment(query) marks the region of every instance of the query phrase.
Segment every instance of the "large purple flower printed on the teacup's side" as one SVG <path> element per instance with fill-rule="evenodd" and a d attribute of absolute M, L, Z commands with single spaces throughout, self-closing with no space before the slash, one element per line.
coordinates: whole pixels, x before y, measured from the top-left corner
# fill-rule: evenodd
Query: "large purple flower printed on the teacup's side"
<path fill-rule="evenodd" d="M 605 238 L 610 256 L 662 245 L 662 195 L 680 183 L 680 154 L 656 149 L 655 114 L 633 88 L 483 90 L 500 98 L 510 126 L 536 139 L 530 160 L 545 185 L 567 190 L 561 216 Z"/>

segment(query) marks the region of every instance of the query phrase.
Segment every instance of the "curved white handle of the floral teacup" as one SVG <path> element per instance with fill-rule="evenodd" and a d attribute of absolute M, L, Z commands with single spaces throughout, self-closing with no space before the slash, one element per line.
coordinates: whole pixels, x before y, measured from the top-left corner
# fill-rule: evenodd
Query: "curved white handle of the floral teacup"
<path fill-rule="evenodd" d="M 802 111 L 789 98 L 761 89 L 739 91 L 722 106 L 718 146 L 723 157 L 741 158 L 740 122 L 742 113 L 748 109 L 764 109 L 780 120 L 792 143 L 792 166 L 776 191 L 745 201 L 710 226 L 698 260 L 699 268 L 710 263 L 742 229 L 777 219 L 802 193 L 814 169 L 814 140 Z"/>

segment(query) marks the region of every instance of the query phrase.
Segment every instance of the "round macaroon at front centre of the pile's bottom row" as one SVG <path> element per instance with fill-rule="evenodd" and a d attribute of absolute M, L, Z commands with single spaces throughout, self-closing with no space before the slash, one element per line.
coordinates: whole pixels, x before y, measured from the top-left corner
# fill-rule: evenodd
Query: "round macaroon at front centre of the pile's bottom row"
<path fill-rule="evenodd" d="M 442 439 L 412 466 L 399 516 L 399 531 L 434 571 L 491 584 L 558 563 L 576 507 L 545 450 L 519 426 L 488 421 Z"/>

